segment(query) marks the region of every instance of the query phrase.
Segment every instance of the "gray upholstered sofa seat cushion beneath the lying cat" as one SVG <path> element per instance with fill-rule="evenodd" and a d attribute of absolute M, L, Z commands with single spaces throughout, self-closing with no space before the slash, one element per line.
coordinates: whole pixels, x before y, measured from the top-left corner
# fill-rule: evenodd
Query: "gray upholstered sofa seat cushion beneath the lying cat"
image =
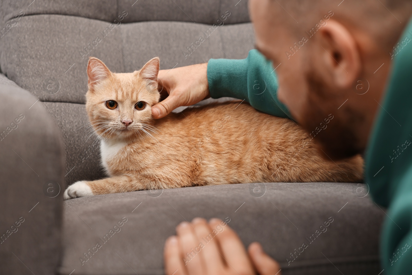
<path fill-rule="evenodd" d="M 253 193 L 259 187 L 260 192 Z M 64 275 L 74 269 L 75 274 L 163 274 L 166 237 L 175 233 L 181 221 L 201 216 L 229 217 L 229 226 L 243 243 L 261 242 L 281 263 L 284 275 L 341 274 L 339 270 L 377 275 L 381 271 L 379 228 L 385 214 L 363 197 L 363 188 L 356 183 L 243 183 L 68 200 L 60 271 Z M 100 238 L 123 217 L 127 222 L 104 243 Z M 308 239 L 330 217 L 333 221 L 327 230 L 310 243 Z M 85 257 L 98 242 L 102 247 Z M 288 266 L 286 259 L 293 259 L 290 253 L 304 242 L 309 247 Z"/>

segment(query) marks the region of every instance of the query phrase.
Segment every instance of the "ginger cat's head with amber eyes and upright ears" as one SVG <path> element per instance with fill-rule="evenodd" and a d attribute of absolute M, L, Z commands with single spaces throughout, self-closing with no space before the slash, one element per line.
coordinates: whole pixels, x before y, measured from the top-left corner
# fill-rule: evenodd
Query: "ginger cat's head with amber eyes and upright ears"
<path fill-rule="evenodd" d="M 152 106 L 159 102 L 159 58 L 140 71 L 112 73 L 94 57 L 89 59 L 86 110 L 95 132 L 106 139 L 133 139 L 147 132 Z"/>

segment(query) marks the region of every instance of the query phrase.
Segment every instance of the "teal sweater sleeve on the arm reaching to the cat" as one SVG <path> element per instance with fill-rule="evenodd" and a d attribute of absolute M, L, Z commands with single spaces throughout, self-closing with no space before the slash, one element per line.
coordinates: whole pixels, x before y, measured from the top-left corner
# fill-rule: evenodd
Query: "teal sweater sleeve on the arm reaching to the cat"
<path fill-rule="evenodd" d="M 277 97 L 278 80 L 272 63 L 256 49 L 246 59 L 210 59 L 207 78 L 214 99 L 244 99 L 264 113 L 292 119 Z"/>

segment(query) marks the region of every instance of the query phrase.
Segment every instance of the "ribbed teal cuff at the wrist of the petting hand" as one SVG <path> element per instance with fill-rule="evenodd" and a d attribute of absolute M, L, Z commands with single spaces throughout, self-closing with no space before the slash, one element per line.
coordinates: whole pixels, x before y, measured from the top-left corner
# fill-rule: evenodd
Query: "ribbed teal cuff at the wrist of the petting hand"
<path fill-rule="evenodd" d="M 207 65 L 210 96 L 234 97 L 248 101 L 248 63 L 246 59 L 210 59 Z"/>

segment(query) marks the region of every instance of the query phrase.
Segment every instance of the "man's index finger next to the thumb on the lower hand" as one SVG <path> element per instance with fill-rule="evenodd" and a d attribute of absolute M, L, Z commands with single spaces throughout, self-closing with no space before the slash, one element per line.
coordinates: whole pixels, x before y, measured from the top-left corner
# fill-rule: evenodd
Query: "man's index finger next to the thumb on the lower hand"
<path fill-rule="evenodd" d="M 209 226 L 216 228 L 222 226 L 220 219 L 211 219 Z M 228 263 L 229 268 L 234 268 L 237 273 L 253 274 L 253 267 L 250 265 L 250 260 L 246 254 L 246 249 L 243 247 L 242 241 L 227 224 L 222 226 L 222 232 L 216 234 L 216 238 L 222 249 L 222 256 Z"/>

